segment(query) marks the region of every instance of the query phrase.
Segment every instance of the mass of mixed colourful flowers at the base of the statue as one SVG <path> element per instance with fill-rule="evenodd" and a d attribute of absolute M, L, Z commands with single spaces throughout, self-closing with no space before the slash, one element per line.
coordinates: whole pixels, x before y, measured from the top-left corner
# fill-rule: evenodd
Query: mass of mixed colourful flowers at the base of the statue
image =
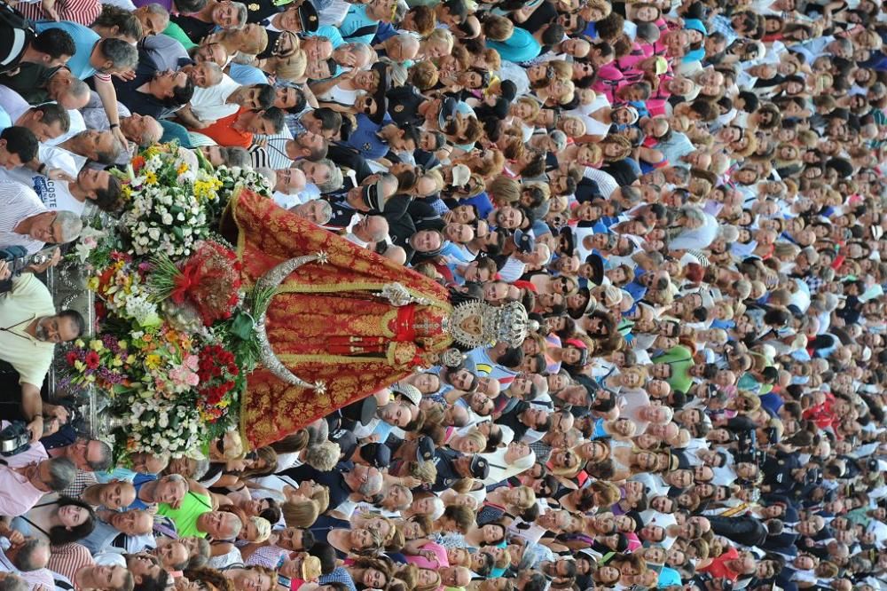
<path fill-rule="evenodd" d="M 130 453 L 200 457 L 238 424 L 240 393 L 260 358 L 255 310 L 233 248 L 212 229 L 239 186 L 271 196 L 252 170 L 213 169 L 200 152 L 152 146 L 118 172 L 119 220 L 87 220 L 69 257 L 90 269 L 98 337 L 65 353 L 63 379 L 104 390 L 122 417 L 110 437 Z"/>

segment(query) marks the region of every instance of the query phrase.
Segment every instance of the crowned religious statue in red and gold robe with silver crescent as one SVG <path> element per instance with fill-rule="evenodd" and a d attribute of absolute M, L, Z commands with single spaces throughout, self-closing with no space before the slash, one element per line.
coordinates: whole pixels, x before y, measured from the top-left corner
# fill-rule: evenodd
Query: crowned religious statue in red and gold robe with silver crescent
<path fill-rule="evenodd" d="M 461 353 L 522 343 L 520 303 L 451 303 L 435 280 L 359 248 L 243 190 L 223 232 L 244 285 L 273 289 L 258 319 L 263 366 L 249 375 L 240 426 L 254 448 Z"/>

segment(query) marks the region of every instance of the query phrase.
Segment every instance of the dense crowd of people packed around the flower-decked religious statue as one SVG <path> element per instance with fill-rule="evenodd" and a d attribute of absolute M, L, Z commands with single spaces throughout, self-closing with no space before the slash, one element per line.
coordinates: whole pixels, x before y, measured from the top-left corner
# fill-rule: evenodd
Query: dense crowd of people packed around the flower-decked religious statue
<path fill-rule="evenodd" d="M 0 590 L 881 591 L 884 40 L 875 0 L 3 4 Z M 537 329 L 114 466 L 41 395 L 58 254 L 12 272 L 170 141 Z"/>

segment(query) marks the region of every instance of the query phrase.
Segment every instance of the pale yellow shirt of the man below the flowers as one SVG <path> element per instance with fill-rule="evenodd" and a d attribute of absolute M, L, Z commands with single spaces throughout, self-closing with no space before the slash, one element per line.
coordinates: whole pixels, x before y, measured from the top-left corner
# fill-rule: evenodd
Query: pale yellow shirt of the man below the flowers
<path fill-rule="evenodd" d="M 19 383 L 43 384 L 55 344 L 38 341 L 25 329 L 34 319 L 53 314 L 50 290 L 33 273 L 12 280 L 12 291 L 0 296 L 0 359 L 19 372 Z"/>

